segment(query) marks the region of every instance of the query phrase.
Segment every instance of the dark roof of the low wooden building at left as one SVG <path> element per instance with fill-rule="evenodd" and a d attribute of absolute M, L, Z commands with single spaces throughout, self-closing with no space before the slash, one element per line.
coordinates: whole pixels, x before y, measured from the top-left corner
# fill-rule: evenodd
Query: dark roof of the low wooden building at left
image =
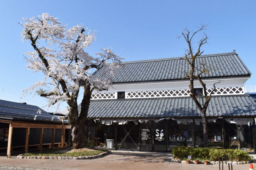
<path fill-rule="evenodd" d="M 41 114 L 37 113 L 38 109 L 41 110 Z M 36 120 L 34 120 L 35 115 L 37 115 Z M 51 115 L 38 106 L 6 100 L 0 100 L 0 119 L 34 121 L 37 123 L 45 121 L 50 123 L 61 122 L 58 117 Z"/>

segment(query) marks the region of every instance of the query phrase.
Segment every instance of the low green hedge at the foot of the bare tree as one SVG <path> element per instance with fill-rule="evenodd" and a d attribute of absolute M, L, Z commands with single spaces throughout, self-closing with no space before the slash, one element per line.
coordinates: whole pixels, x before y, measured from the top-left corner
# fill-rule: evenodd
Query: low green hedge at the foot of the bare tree
<path fill-rule="evenodd" d="M 231 161 L 248 161 L 250 156 L 247 152 L 238 149 L 213 149 L 213 148 L 192 148 L 192 147 L 176 147 L 172 153 L 177 158 L 192 157 L 192 160 L 213 160 L 219 159 L 219 156 L 225 160 Z"/>

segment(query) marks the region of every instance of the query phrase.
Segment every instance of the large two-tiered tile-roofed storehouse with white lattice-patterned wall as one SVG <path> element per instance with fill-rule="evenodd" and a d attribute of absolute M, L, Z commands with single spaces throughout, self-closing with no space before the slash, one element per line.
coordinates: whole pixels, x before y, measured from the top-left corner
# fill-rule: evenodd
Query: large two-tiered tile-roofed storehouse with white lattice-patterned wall
<path fill-rule="evenodd" d="M 220 81 L 206 113 L 209 147 L 254 152 L 256 104 L 244 93 L 251 72 L 235 51 L 198 57 L 197 68 L 202 63 L 210 68 L 202 75 L 207 92 Z M 124 62 L 116 68 L 113 86 L 92 94 L 86 126 L 90 145 L 163 152 L 202 147 L 201 115 L 183 79 L 188 69 L 180 58 Z M 108 76 L 104 67 L 94 73 L 95 78 Z M 195 88 L 203 93 L 198 81 Z"/>

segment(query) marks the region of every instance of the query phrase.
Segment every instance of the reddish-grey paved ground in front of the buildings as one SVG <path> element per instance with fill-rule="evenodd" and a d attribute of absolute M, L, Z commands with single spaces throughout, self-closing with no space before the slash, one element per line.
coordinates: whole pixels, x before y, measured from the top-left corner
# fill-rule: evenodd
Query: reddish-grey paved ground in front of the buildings
<path fill-rule="evenodd" d="M 195 165 L 170 162 L 170 154 L 156 152 L 114 152 L 92 160 L 36 160 L 0 156 L 0 165 L 58 170 L 218 170 L 217 165 Z M 1 170 L 8 169 L 2 167 Z M 256 168 L 256 164 L 254 164 Z M 224 170 L 228 166 L 224 165 Z M 233 170 L 249 170 L 249 164 L 234 165 Z"/>

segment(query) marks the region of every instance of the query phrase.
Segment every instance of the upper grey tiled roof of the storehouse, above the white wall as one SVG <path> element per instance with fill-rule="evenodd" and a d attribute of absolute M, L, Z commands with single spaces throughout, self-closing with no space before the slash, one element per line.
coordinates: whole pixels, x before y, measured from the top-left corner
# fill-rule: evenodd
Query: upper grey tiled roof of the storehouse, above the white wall
<path fill-rule="evenodd" d="M 196 65 L 210 68 L 210 74 L 202 74 L 204 78 L 250 76 L 250 71 L 235 53 L 222 53 L 215 55 L 202 55 L 197 58 Z M 180 80 L 188 72 L 188 64 L 180 57 L 169 59 L 156 59 L 148 61 L 124 62 L 122 68 L 114 70 L 113 84 L 131 82 L 154 82 Z M 109 73 L 104 67 L 95 72 L 95 78 L 108 78 Z"/>

